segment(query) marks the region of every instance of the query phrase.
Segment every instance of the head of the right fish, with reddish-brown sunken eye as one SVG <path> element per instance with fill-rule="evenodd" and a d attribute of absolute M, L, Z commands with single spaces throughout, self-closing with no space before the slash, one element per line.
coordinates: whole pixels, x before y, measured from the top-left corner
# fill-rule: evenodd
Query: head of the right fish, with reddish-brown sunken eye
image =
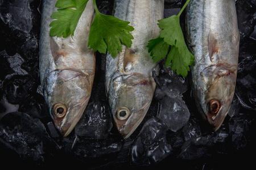
<path fill-rule="evenodd" d="M 200 74 L 203 81 L 207 82 L 201 108 L 215 131 L 222 125 L 232 104 L 236 87 L 236 68 L 237 65 L 212 65 Z"/>

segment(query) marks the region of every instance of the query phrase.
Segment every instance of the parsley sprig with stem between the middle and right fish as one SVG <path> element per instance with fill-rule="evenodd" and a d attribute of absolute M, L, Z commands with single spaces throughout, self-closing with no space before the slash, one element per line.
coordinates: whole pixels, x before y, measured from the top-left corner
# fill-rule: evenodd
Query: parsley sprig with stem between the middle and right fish
<path fill-rule="evenodd" d="M 182 76 L 187 76 L 189 66 L 193 64 L 195 57 L 191 54 L 185 44 L 183 32 L 180 27 L 180 15 L 188 5 L 188 0 L 181 8 L 178 15 L 172 15 L 169 18 L 158 20 L 158 26 L 160 29 L 160 35 L 155 39 L 148 41 L 148 52 L 152 56 L 154 62 L 160 61 L 160 59 L 166 58 L 165 66 L 168 67 L 171 64 L 173 71 Z M 171 50 L 168 53 L 169 47 Z"/>

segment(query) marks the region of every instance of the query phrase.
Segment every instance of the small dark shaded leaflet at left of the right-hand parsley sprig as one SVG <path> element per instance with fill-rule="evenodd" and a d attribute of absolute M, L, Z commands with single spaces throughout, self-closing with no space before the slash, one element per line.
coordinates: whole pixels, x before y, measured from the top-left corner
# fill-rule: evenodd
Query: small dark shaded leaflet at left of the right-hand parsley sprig
<path fill-rule="evenodd" d="M 148 53 L 150 53 L 154 62 L 158 62 L 160 59 L 166 58 L 169 46 L 169 44 L 164 42 L 163 38 L 158 36 L 155 39 L 148 41 Z"/>

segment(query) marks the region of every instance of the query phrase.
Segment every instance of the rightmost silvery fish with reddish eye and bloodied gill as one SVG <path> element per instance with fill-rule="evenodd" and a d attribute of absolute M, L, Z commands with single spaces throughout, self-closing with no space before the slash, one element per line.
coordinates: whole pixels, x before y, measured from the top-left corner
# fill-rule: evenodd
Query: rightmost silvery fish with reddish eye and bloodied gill
<path fill-rule="evenodd" d="M 187 42 L 197 107 L 214 130 L 228 114 L 236 87 L 240 35 L 234 0 L 192 0 L 187 7 Z"/>

